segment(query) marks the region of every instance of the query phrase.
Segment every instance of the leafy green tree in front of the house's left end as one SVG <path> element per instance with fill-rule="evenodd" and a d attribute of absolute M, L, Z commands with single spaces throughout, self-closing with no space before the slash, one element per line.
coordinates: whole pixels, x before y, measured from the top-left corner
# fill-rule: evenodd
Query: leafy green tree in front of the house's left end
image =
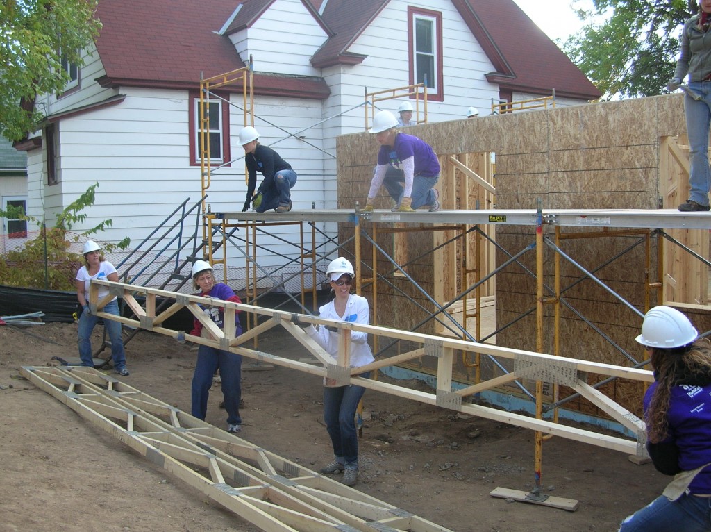
<path fill-rule="evenodd" d="M 101 28 L 98 0 L 4 0 L 0 3 L 0 134 L 26 138 L 43 119 L 36 95 L 62 92 L 62 60 L 82 65 L 81 50 Z"/>

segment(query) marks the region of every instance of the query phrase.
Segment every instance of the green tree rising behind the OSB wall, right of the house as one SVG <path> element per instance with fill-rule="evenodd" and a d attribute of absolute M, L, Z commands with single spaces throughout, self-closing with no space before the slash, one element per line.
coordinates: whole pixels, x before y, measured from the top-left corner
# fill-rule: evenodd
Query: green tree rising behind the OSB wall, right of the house
<path fill-rule="evenodd" d="M 697 1 L 592 1 L 592 10 L 577 11 L 588 23 L 563 51 L 606 99 L 666 92 L 680 52 L 681 26 L 697 12 Z"/>

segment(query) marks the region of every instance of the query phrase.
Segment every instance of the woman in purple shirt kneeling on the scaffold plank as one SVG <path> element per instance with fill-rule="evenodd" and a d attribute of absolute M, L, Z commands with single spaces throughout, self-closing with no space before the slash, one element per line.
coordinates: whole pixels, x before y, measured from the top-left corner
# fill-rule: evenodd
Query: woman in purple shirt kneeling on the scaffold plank
<path fill-rule="evenodd" d="M 414 135 L 399 132 L 390 111 L 375 114 L 370 132 L 378 139 L 380 151 L 363 211 L 373 211 L 380 185 L 385 185 L 395 201 L 394 211 L 408 213 L 422 206 L 428 206 L 429 212 L 439 211 L 439 192 L 434 188 L 439 180 L 439 160 L 432 147 Z"/>

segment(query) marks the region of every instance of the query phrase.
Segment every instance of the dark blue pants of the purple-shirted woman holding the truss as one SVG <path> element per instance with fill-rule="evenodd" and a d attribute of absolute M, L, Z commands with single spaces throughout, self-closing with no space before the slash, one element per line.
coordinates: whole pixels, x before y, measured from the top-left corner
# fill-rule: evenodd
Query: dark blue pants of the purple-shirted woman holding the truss
<path fill-rule="evenodd" d="M 240 425 L 240 399 L 242 398 L 242 355 L 215 349 L 209 346 L 200 346 L 198 361 L 193 373 L 193 404 L 192 414 L 198 419 L 205 420 L 208 413 L 208 395 L 210 386 L 213 385 L 215 371 L 220 369 L 222 380 L 225 410 L 229 425 Z"/>

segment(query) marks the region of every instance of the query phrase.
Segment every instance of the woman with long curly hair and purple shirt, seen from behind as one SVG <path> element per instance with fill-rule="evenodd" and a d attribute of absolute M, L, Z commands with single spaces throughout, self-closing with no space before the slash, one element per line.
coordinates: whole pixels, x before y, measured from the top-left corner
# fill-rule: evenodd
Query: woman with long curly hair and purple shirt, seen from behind
<path fill-rule="evenodd" d="M 645 314 L 636 340 L 655 380 L 644 395 L 647 451 L 654 467 L 675 479 L 620 531 L 711 530 L 711 346 L 684 314 L 664 305 Z"/>

